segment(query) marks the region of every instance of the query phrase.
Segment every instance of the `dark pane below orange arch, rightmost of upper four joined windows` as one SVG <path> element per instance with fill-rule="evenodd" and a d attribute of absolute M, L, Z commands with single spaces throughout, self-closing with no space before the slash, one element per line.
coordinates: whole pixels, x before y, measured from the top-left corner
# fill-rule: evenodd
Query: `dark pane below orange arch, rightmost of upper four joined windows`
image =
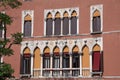
<path fill-rule="evenodd" d="M 71 34 L 77 34 L 77 17 L 71 18 Z"/>

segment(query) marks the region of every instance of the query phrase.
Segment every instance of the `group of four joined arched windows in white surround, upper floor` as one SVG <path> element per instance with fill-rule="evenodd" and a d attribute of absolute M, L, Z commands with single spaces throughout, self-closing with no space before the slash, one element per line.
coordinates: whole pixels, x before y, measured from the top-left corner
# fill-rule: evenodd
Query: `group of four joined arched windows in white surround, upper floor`
<path fill-rule="evenodd" d="M 45 10 L 44 35 L 76 35 L 78 27 L 78 8 Z"/>

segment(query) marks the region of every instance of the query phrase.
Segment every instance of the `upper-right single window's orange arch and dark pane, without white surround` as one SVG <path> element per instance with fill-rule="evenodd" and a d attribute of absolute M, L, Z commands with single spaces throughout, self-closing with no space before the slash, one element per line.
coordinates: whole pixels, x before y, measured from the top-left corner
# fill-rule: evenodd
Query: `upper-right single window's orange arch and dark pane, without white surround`
<path fill-rule="evenodd" d="M 101 32 L 101 16 L 98 10 L 95 10 L 93 13 L 93 20 L 92 20 L 92 30 L 94 32 Z"/>

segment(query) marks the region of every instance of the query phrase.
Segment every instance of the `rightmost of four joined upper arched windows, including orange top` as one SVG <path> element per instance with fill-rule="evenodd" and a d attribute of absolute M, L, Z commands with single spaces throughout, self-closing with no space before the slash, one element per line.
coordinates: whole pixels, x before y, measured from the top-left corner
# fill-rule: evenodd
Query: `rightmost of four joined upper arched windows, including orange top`
<path fill-rule="evenodd" d="M 71 14 L 71 34 L 77 34 L 77 13 L 73 11 Z"/>

